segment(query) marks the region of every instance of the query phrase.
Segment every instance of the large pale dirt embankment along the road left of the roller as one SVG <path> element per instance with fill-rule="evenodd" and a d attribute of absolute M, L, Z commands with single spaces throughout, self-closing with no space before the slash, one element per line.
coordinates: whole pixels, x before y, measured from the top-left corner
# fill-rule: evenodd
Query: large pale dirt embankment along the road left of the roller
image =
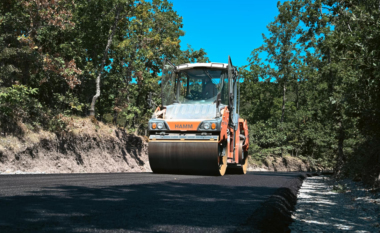
<path fill-rule="evenodd" d="M 81 121 L 65 133 L 0 138 L 0 173 L 96 173 L 151 171 L 148 145 L 124 130 Z M 86 126 L 87 127 L 84 127 Z"/>

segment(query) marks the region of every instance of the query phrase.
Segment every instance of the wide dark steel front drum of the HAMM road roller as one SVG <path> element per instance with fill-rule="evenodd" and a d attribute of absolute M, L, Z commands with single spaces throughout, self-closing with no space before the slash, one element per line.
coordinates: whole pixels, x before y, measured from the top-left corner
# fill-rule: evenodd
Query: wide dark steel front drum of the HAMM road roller
<path fill-rule="evenodd" d="M 223 176 L 227 168 L 216 141 L 150 141 L 148 155 L 154 173 Z"/>

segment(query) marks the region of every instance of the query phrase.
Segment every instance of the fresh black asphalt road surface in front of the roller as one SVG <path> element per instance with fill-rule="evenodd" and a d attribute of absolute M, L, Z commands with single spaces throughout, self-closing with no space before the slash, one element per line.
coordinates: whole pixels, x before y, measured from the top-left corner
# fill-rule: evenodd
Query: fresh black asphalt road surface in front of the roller
<path fill-rule="evenodd" d="M 0 232 L 233 232 L 299 174 L 1 175 Z"/>

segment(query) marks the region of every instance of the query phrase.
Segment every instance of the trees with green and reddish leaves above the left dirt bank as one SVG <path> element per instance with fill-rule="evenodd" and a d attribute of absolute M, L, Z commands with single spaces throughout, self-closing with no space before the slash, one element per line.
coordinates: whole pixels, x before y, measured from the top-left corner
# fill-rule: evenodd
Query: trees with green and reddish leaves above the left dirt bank
<path fill-rule="evenodd" d="M 102 69 L 116 11 L 120 17 Z M 31 121 L 55 131 L 65 125 L 62 116 L 88 116 L 102 73 L 97 120 L 143 133 L 161 103 L 164 58 L 208 60 L 203 49 L 181 51 L 183 35 L 182 17 L 167 0 L 1 1 L 1 127 Z"/>

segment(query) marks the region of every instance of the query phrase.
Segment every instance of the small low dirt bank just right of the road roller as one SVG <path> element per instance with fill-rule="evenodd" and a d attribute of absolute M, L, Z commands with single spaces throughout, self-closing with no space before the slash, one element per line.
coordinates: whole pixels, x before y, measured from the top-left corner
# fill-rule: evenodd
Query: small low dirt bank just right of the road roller
<path fill-rule="evenodd" d="M 312 164 L 307 160 L 302 160 L 297 157 L 291 156 L 268 156 L 262 163 L 252 162 L 249 165 L 248 170 L 250 171 L 278 171 L 278 172 L 314 172 L 328 170 L 321 166 Z"/>

